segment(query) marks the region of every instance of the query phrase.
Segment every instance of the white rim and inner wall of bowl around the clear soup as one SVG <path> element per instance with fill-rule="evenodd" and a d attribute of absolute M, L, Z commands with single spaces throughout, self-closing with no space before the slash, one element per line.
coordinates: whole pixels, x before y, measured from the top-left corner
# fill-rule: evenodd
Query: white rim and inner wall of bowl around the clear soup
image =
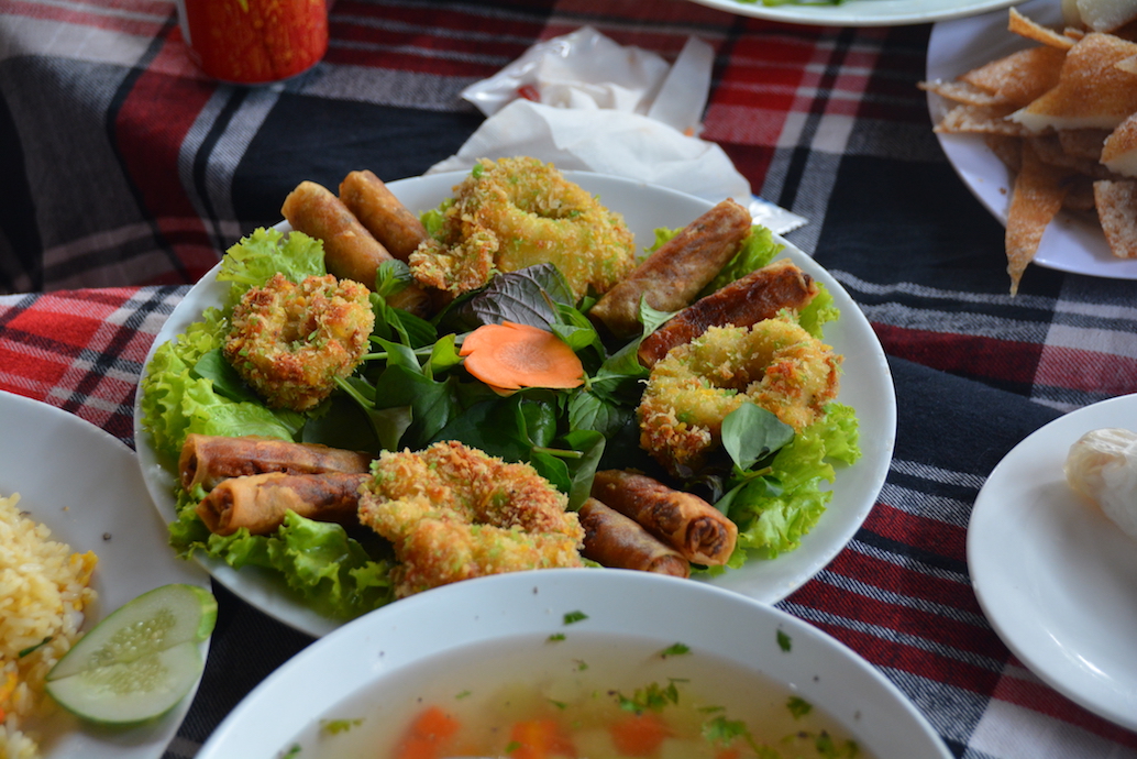
<path fill-rule="evenodd" d="M 680 609 L 682 613 L 675 613 Z M 564 616 L 576 611 L 588 618 L 565 627 Z M 696 653 L 757 670 L 827 711 L 878 759 L 951 757 L 891 683 L 799 619 L 673 577 L 548 569 L 435 588 L 350 622 L 257 686 L 198 759 L 283 756 L 305 726 L 334 718 L 338 710 L 330 710 L 400 668 L 479 643 L 508 640 L 520 650 L 526 644 L 548 646 L 551 634 L 571 640 L 578 632 L 647 638 L 658 649 L 686 643 Z M 788 651 L 779 645 L 780 636 L 788 638 Z M 298 693 L 304 698 L 296 698 Z M 299 756 L 308 756 L 307 748 L 301 744 Z"/>

